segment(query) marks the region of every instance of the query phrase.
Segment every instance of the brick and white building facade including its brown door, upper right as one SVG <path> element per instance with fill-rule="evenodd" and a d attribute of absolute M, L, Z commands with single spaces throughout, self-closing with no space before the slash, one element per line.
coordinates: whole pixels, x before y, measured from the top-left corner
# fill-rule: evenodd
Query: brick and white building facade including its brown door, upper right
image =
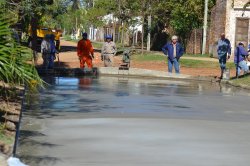
<path fill-rule="evenodd" d="M 209 30 L 209 53 L 217 56 L 216 46 L 221 33 L 231 41 L 232 52 L 239 42 L 250 44 L 250 8 L 243 7 L 249 0 L 217 0 L 212 10 Z"/>

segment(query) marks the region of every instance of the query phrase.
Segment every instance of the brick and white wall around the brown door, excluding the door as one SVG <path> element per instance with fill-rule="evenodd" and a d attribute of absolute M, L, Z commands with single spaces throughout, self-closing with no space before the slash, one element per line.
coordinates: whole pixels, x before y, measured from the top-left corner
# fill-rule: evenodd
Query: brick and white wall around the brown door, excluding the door
<path fill-rule="evenodd" d="M 209 30 L 209 53 L 217 56 L 217 41 L 221 33 L 225 33 L 226 38 L 231 41 L 232 53 L 235 49 L 235 34 L 237 18 L 250 19 L 250 10 L 247 9 L 242 16 L 243 6 L 249 0 L 217 0 L 216 6 L 211 13 L 211 24 Z M 250 27 L 250 25 L 249 25 Z M 250 28 L 248 35 L 248 44 L 250 43 Z M 231 58 L 232 60 L 233 58 Z"/>

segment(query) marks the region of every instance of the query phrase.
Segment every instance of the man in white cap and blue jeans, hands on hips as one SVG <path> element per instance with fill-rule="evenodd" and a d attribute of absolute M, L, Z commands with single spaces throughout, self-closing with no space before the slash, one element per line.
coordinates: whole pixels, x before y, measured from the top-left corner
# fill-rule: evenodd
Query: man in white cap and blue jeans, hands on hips
<path fill-rule="evenodd" d="M 168 72 L 172 73 L 174 66 L 175 73 L 180 73 L 179 60 L 184 53 L 184 49 L 182 45 L 178 42 L 178 37 L 173 36 L 172 42 L 164 45 L 162 51 L 166 56 L 168 56 Z"/>

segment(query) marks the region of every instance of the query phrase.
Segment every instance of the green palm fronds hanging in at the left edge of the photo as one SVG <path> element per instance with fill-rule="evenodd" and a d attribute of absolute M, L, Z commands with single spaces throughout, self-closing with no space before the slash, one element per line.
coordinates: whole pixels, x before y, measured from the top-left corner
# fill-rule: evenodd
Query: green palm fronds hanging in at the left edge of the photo
<path fill-rule="evenodd" d="M 42 85 L 32 61 L 29 48 L 20 46 L 12 38 L 9 21 L 0 13 L 0 80 L 14 85 Z"/>

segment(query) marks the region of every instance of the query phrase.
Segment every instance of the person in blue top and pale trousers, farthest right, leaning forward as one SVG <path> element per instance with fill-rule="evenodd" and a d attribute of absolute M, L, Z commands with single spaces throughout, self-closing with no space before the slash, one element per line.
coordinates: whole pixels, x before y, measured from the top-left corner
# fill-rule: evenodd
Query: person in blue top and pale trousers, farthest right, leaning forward
<path fill-rule="evenodd" d="M 246 74 L 249 69 L 247 66 L 248 52 L 244 48 L 244 44 L 240 42 L 235 49 L 234 53 L 234 63 L 236 65 L 237 75 L 240 75 L 241 70 Z"/>

